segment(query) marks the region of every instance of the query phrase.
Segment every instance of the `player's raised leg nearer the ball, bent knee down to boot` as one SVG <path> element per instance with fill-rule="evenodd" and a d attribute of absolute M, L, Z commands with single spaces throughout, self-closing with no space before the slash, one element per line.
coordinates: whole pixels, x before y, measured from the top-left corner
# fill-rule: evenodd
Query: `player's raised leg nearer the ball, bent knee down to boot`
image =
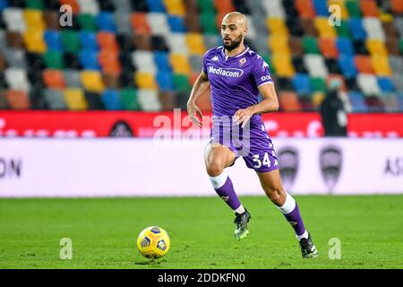
<path fill-rule="evenodd" d="M 247 223 L 251 216 L 239 201 L 231 178 L 228 177 L 226 168 L 234 164 L 236 155 L 227 146 L 218 143 L 210 143 L 204 152 L 204 162 L 211 185 L 226 204 L 236 213 L 236 239 L 243 239 L 249 233 Z"/>

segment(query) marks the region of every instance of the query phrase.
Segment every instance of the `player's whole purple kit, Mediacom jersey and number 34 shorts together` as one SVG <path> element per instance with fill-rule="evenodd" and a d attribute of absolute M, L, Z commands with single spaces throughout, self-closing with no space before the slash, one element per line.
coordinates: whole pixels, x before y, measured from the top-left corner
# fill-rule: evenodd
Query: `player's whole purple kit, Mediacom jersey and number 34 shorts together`
<path fill-rule="evenodd" d="M 224 48 L 219 47 L 204 55 L 203 72 L 209 77 L 213 108 L 209 143 L 226 145 L 236 158 L 242 156 L 250 169 L 260 172 L 279 169 L 262 116 L 253 115 L 245 128 L 232 121 L 238 109 L 258 103 L 259 86 L 273 83 L 269 65 L 248 47 L 235 57 L 227 57 Z"/>

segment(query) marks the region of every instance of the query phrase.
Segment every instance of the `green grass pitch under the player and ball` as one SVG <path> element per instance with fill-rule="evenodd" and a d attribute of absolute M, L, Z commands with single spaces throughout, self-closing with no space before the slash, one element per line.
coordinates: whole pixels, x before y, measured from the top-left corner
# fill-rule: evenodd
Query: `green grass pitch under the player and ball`
<path fill-rule="evenodd" d="M 0 268 L 402 268 L 403 196 L 295 196 L 319 258 L 302 259 L 293 230 L 263 196 L 241 196 L 250 234 L 236 241 L 219 197 L 0 199 Z M 139 232 L 159 225 L 166 257 L 141 257 Z M 60 239 L 73 258 L 59 256 Z M 329 258 L 331 238 L 341 258 Z"/>

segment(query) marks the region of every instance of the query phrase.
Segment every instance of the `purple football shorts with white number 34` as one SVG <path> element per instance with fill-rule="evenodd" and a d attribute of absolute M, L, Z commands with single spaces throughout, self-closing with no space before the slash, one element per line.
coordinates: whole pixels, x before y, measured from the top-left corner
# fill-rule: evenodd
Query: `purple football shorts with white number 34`
<path fill-rule="evenodd" d="M 209 143 L 220 143 L 240 156 L 249 169 L 259 172 L 269 172 L 279 169 L 279 162 L 274 151 L 273 143 L 266 132 L 262 120 L 250 122 L 244 128 L 231 122 L 213 120 Z"/>

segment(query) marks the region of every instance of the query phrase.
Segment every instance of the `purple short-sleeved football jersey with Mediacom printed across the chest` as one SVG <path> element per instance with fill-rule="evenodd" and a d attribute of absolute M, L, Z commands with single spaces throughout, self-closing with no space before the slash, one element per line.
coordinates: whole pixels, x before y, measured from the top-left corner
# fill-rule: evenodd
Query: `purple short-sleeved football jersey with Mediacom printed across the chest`
<path fill-rule="evenodd" d="M 203 57 L 203 72 L 209 77 L 213 116 L 216 117 L 232 117 L 238 109 L 256 105 L 258 87 L 273 83 L 269 65 L 248 47 L 234 57 L 227 57 L 222 46 L 211 48 Z M 251 121 L 260 118 L 254 115 Z"/>

